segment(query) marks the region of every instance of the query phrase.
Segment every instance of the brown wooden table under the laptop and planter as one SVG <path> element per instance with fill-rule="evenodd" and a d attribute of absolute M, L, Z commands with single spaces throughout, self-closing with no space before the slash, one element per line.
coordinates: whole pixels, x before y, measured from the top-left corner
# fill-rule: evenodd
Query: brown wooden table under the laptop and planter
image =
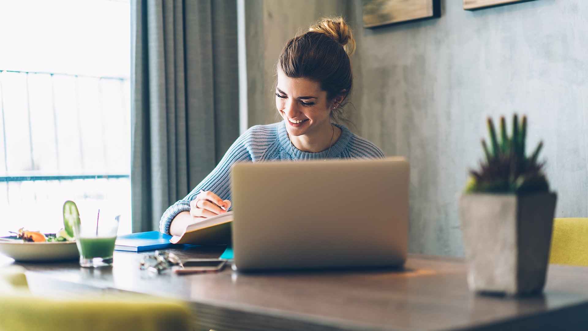
<path fill-rule="evenodd" d="M 223 247 L 168 250 L 182 259 Z M 19 263 L 36 291 L 66 287 L 188 300 L 203 328 L 222 330 L 588 330 L 588 268 L 551 265 L 543 296 L 477 296 L 463 259 L 410 255 L 402 270 L 155 275 L 139 254 L 116 252 L 112 268 Z"/>

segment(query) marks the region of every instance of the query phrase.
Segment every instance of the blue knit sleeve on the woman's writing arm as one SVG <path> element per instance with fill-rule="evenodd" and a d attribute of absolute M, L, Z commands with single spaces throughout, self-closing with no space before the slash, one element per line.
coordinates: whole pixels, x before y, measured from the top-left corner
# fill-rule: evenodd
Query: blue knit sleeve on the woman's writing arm
<path fill-rule="evenodd" d="M 236 162 L 252 161 L 252 155 L 247 146 L 249 134 L 241 135 L 220 160 L 212 173 L 208 174 L 200 184 L 188 193 L 182 200 L 169 206 L 159 221 L 159 231 L 169 234 L 169 226 L 176 215 L 182 211 L 190 211 L 190 201 L 194 200 L 200 190 L 212 191 L 223 200 L 230 200 L 230 168 Z"/>

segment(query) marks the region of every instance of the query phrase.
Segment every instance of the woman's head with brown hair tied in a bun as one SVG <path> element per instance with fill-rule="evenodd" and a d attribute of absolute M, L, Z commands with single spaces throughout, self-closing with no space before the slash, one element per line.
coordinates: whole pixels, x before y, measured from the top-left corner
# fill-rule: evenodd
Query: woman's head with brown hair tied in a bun
<path fill-rule="evenodd" d="M 351 91 L 349 55 L 354 51 L 349 26 L 343 18 L 335 18 L 321 19 L 305 34 L 290 39 L 280 54 L 276 107 L 299 150 L 326 150 L 340 137 L 342 131 L 330 118 L 342 115 L 336 111 Z"/>

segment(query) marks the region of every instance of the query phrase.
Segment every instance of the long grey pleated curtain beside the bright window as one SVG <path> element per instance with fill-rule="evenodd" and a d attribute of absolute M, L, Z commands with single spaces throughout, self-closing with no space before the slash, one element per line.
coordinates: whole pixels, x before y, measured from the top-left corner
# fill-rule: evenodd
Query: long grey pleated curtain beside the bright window
<path fill-rule="evenodd" d="M 216 166 L 239 134 L 235 0 L 131 2 L 133 232 Z"/>

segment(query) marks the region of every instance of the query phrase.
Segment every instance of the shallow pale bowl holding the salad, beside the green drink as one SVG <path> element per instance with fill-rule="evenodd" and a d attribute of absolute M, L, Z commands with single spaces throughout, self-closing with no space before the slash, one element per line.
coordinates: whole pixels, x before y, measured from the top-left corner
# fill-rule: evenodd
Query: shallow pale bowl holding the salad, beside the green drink
<path fill-rule="evenodd" d="M 0 237 L 0 253 L 16 261 L 62 261 L 79 258 L 75 241 L 25 243 L 14 237 Z"/>

